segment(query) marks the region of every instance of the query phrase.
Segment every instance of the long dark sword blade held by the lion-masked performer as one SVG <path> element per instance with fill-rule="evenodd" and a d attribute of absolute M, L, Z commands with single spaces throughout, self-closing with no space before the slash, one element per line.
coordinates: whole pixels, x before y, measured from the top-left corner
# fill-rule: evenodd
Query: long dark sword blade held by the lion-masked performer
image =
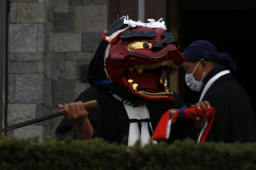
<path fill-rule="evenodd" d="M 14 130 L 14 129 L 18 129 L 20 127 L 24 127 L 24 126 L 28 126 L 28 125 L 32 125 L 38 122 L 42 122 L 48 119 L 52 119 L 54 117 L 58 117 L 58 116 L 63 116 L 64 115 L 64 110 L 58 111 L 56 113 L 52 113 L 46 116 L 41 116 L 41 117 L 37 117 L 35 119 L 31 119 L 25 122 L 20 122 L 20 123 L 16 123 L 14 125 L 9 125 L 9 126 L 5 126 L 1 132 L 7 132 L 9 130 Z"/>

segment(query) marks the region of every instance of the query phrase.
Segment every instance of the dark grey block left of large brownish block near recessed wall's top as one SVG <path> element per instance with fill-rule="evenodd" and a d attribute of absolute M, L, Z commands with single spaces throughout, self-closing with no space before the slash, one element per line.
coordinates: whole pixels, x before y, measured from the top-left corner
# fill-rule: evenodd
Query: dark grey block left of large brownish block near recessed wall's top
<path fill-rule="evenodd" d="M 74 13 L 54 13 L 54 32 L 74 32 Z"/>

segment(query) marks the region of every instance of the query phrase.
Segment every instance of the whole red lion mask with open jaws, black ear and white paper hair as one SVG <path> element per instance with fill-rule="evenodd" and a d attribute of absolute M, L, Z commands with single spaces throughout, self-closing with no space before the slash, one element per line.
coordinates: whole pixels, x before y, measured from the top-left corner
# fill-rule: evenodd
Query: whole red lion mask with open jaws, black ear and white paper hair
<path fill-rule="evenodd" d="M 186 62 L 186 56 L 173 34 L 166 32 L 164 21 L 148 21 L 118 19 L 103 33 L 109 43 L 104 55 L 105 72 L 111 82 L 138 98 L 172 101 L 173 92 L 161 75 L 174 74 Z"/>

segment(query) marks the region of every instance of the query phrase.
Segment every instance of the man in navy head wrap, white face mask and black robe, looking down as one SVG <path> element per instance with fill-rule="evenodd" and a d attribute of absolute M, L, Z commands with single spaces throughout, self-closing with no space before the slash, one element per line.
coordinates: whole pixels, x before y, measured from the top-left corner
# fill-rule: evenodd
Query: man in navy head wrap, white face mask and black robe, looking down
<path fill-rule="evenodd" d="M 236 70 L 235 61 L 204 40 L 194 41 L 184 54 L 187 56 L 186 84 L 200 91 L 199 102 L 207 100 L 216 110 L 206 141 L 256 141 L 251 101 L 229 71 Z"/>

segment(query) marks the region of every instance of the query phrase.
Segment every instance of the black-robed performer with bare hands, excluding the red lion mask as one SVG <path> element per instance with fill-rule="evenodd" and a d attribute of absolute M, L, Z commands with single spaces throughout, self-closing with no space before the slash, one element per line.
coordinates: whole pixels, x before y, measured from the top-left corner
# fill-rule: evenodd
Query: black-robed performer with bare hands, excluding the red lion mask
<path fill-rule="evenodd" d="M 121 25 L 124 22 L 122 19 L 119 19 L 119 21 L 121 21 Z M 119 29 L 120 23 L 118 24 Z M 114 29 L 113 31 L 111 26 L 110 31 L 115 32 L 116 30 Z M 177 43 L 172 34 L 167 34 L 164 30 L 163 32 L 162 36 L 161 32 L 159 35 L 162 37 L 163 43 L 166 43 L 168 38 L 174 40 L 175 42 L 173 43 Z M 139 36 L 136 33 L 134 35 Z M 152 34 L 145 34 L 143 36 L 152 37 Z M 153 102 L 150 100 L 138 98 L 132 95 L 130 91 L 127 91 L 117 84 L 110 82 L 109 77 L 106 75 L 104 67 L 105 63 L 103 59 L 105 49 L 109 42 L 104 39 L 100 42 L 99 47 L 89 64 L 88 81 L 91 86 L 78 96 L 78 98 L 74 101 L 75 103 L 65 104 L 65 106 L 60 105 L 61 110 L 65 109 L 66 112 L 65 117 L 60 122 L 55 131 L 55 135 L 58 139 L 63 139 L 66 136 L 71 136 L 77 139 L 90 139 L 91 137 L 100 137 L 109 142 L 127 144 L 127 140 L 124 139 L 125 137 L 129 136 L 129 127 L 131 123 L 134 123 L 134 120 L 129 119 L 127 111 L 124 107 L 125 105 L 130 105 L 133 107 L 140 107 L 143 104 L 146 105 L 149 118 L 145 120 L 135 120 L 135 122 L 138 123 L 138 126 L 140 126 L 139 130 L 141 136 L 142 122 L 146 122 L 148 124 L 148 133 L 150 136 L 152 136 L 152 133 L 154 132 L 159 120 L 161 119 L 161 116 L 169 109 L 181 109 L 184 106 L 187 106 L 188 108 L 194 107 L 197 109 L 200 109 L 201 107 L 204 109 L 205 113 L 208 112 L 207 108 L 209 108 L 210 105 L 207 101 L 191 105 L 190 103 L 183 103 L 178 95 L 174 93 L 174 100 L 172 101 Z M 176 46 L 180 47 L 177 44 L 175 46 L 174 44 L 170 43 L 170 45 L 173 45 L 175 48 Z M 148 48 L 148 46 L 145 46 L 145 48 Z M 157 51 L 154 53 L 157 54 L 156 52 Z M 162 54 L 161 51 L 159 53 Z M 176 53 L 179 52 L 175 52 L 175 54 Z M 90 100 L 97 100 L 98 107 L 86 111 L 83 109 L 81 104 L 82 102 L 87 102 Z M 195 131 L 195 125 L 202 127 L 206 121 L 205 118 L 200 120 L 198 119 L 199 117 L 197 117 L 197 120 L 194 121 L 192 119 L 178 119 L 170 129 L 170 137 L 168 142 L 173 142 L 176 139 L 184 139 L 187 137 L 196 140 L 197 135 Z"/>

